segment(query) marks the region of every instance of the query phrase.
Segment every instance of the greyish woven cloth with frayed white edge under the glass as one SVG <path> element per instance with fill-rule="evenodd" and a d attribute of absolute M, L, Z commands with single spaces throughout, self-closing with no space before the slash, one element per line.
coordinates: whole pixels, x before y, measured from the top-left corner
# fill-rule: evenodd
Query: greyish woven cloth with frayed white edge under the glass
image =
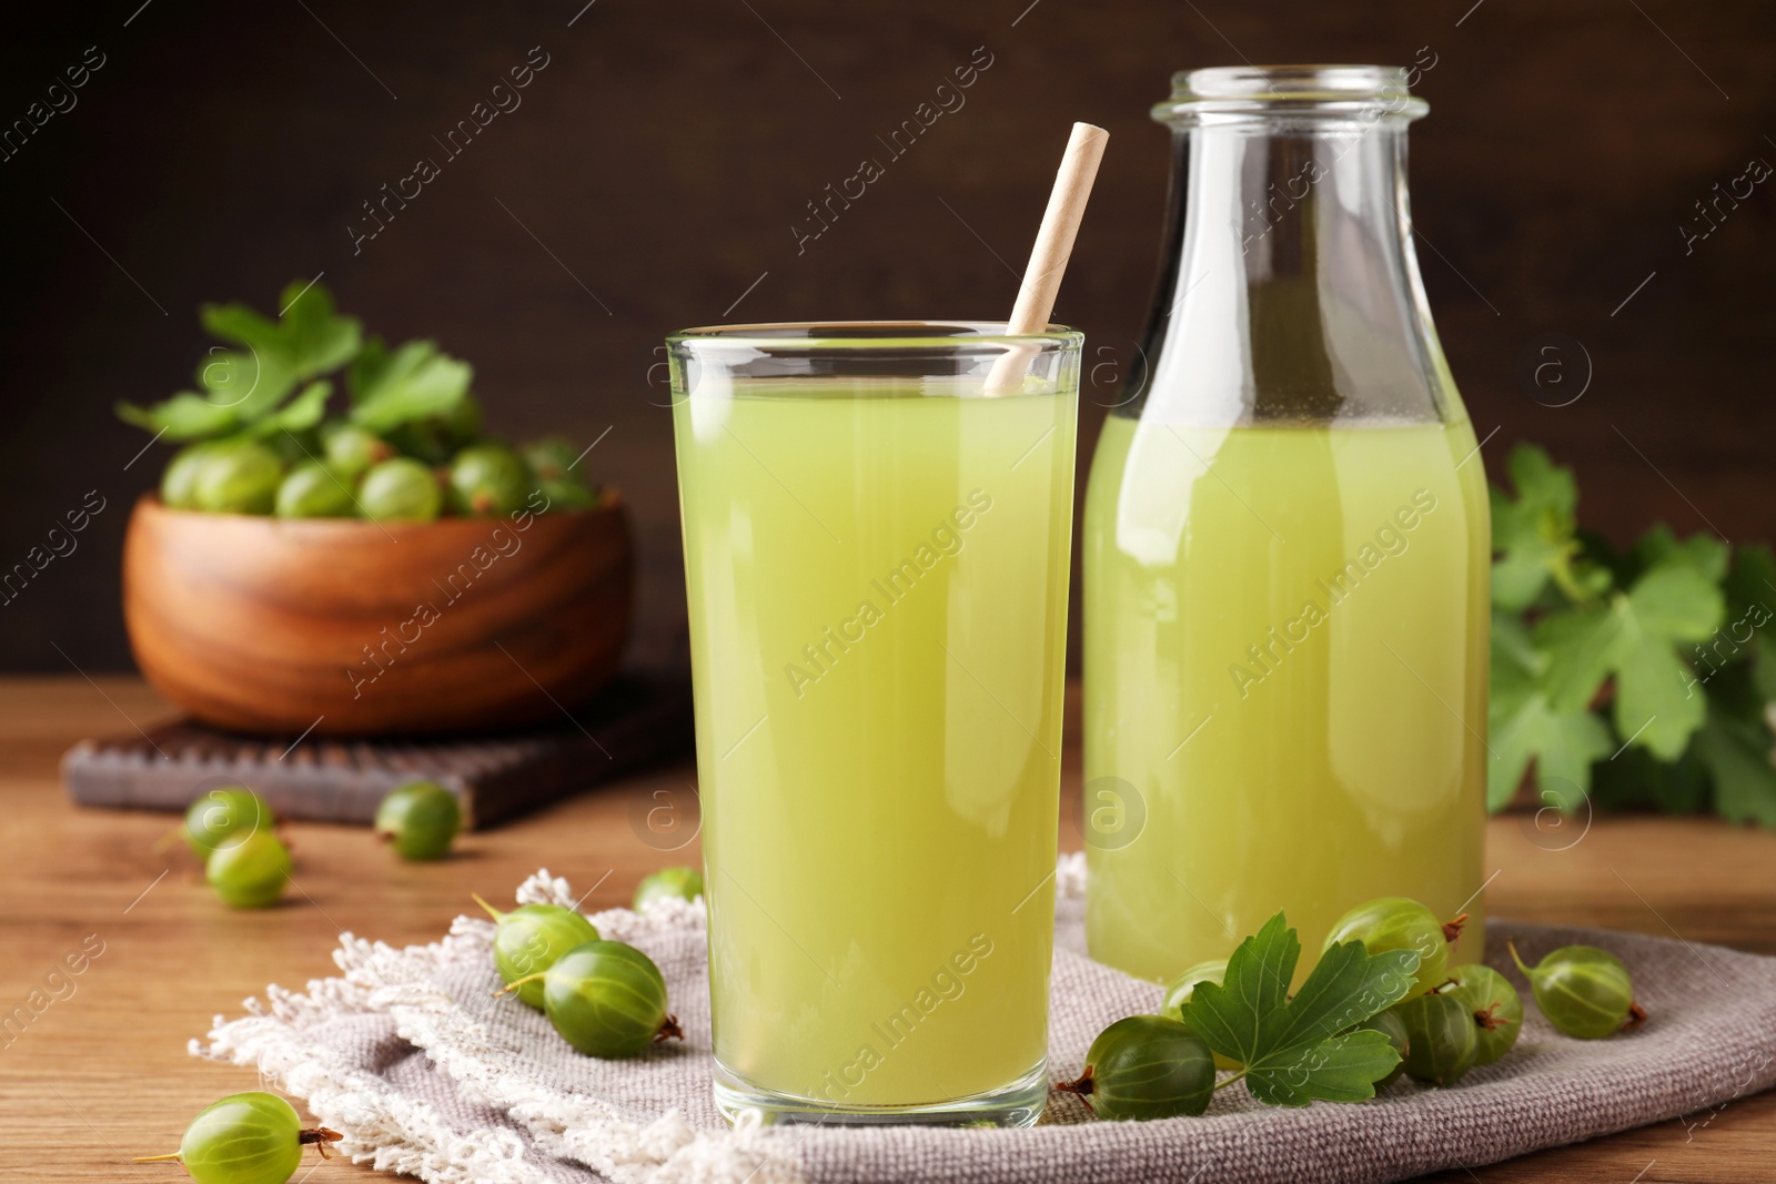
<path fill-rule="evenodd" d="M 1108 1022 L 1156 1010 L 1160 989 L 1083 953 L 1083 864 L 1057 877 L 1050 1072 L 1076 1076 Z M 540 872 L 519 900 L 572 904 Z M 1652 1019 L 1609 1040 L 1549 1028 L 1524 987 L 1517 1047 L 1446 1090 L 1399 1081 L 1373 1102 L 1273 1109 L 1243 1088 L 1209 1113 L 1099 1122 L 1078 1099 L 1050 1097 L 1027 1131 L 929 1127 L 728 1129 L 710 1101 L 709 973 L 700 905 L 593 918 L 666 975 L 684 1044 L 627 1062 L 574 1053 L 538 1012 L 496 1001 L 492 925 L 458 918 L 432 946 L 392 950 L 346 935 L 343 978 L 295 994 L 270 989 L 249 1015 L 217 1019 L 192 1051 L 256 1065 L 346 1134 L 339 1150 L 435 1184 L 874 1184 L 877 1180 L 1295 1182 L 1398 1180 L 1479 1166 L 1657 1120 L 1680 1118 L 1776 1083 L 1776 959 L 1717 946 L 1582 928 L 1494 921 L 1488 962 L 1508 969 L 1561 944 L 1611 950 Z"/>

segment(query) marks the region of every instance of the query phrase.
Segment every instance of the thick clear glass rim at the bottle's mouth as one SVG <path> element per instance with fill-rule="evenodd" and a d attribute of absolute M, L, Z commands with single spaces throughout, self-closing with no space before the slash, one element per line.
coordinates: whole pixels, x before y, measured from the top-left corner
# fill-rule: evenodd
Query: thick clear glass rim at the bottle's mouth
<path fill-rule="evenodd" d="M 1325 115 L 1412 121 L 1430 105 L 1401 66 L 1213 66 L 1172 75 L 1172 98 L 1153 108 L 1165 124 L 1215 117 Z"/>

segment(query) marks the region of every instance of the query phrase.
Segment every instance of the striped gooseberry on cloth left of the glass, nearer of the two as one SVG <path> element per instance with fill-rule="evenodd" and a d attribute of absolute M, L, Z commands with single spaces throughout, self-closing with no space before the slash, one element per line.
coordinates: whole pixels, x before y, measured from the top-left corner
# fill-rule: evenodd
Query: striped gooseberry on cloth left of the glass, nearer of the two
<path fill-rule="evenodd" d="M 650 1044 L 684 1038 L 677 1017 L 666 1012 L 666 976 L 634 946 L 588 941 L 499 994 L 538 980 L 549 1022 L 588 1056 L 634 1056 Z"/>

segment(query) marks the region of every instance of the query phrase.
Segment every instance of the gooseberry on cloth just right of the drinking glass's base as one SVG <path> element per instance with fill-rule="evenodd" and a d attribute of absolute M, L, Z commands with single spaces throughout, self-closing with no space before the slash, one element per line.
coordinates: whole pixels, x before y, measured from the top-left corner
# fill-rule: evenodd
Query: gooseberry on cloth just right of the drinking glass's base
<path fill-rule="evenodd" d="M 1215 1056 L 1169 1015 L 1130 1015 L 1098 1033 L 1078 1079 L 1055 1088 L 1078 1093 L 1099 1118 L 1201 1115 L 1215 1095 Z"/>

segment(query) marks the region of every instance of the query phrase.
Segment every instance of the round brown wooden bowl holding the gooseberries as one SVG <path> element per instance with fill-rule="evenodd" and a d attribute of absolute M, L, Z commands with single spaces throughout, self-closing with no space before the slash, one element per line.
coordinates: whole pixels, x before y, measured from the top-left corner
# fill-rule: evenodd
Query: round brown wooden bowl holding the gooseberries
<path fill-rule="evenodd" d="M 561 513 L 375 524 L 169 509 L 130 517 L 130 648 L 194 717 L 387 735 L 563 719 L 622 659 L 622 499 Z"/>

